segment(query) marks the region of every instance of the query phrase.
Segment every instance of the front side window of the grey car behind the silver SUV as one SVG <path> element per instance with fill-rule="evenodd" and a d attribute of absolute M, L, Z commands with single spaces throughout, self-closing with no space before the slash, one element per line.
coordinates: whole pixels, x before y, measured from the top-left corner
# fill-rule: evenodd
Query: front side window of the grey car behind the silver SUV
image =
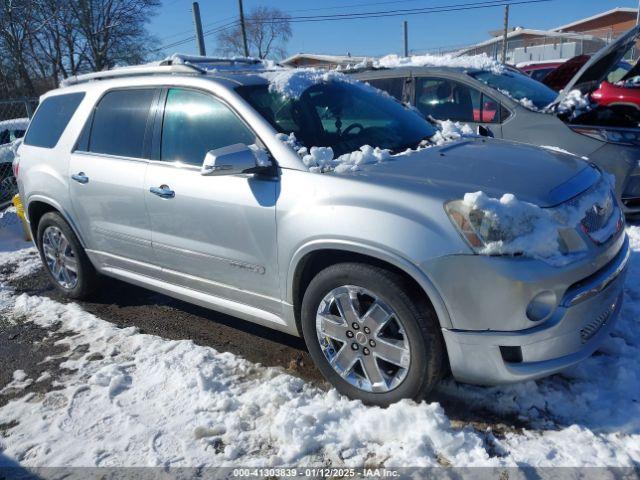
<path fill-rule="evenodd" d="M 444 78 L 418 78 L 416 107 L 438 120 L 477 122 L 480 120 L 480 92 Z"/>

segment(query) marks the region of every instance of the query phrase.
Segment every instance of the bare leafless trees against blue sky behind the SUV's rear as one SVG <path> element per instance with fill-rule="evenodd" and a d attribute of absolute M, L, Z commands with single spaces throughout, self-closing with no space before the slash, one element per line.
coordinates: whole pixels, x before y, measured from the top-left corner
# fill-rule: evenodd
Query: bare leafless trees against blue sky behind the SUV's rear
<path fill-rule="evenodd" d="M 145 61 L 160 0 L 0 0 L 0 95 L 36 95 L 60 79 Z"/>

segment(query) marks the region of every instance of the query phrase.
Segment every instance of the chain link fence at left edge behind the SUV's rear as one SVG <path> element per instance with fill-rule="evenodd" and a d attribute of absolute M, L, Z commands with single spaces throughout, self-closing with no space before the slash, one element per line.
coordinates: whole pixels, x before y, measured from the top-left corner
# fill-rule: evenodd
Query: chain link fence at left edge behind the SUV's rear
<path fill-rule="evenodd" d="M 12 162 L 37 105 L 34 98 L 0 100 L 0 209 L 18 193 Z"/>

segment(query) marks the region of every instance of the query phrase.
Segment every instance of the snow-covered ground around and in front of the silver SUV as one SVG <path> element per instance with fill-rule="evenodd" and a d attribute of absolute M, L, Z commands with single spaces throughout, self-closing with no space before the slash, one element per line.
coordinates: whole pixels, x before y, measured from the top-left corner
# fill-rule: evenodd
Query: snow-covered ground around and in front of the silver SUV
<path fill-rule="evenodd" d="M 627 233 L 633 254 L 625 303 L 597 354 L 537 382 L 481 388 L 447 380 L 436 393 L 477 417 L 486 412 L 483 427 L 452 421 L 435 401 L 366 407 L 283 370 L 118 328 L 77 304 L 2 286 L 3 316 L 52 335 L 66 332 L 59 342 L 68 352 L 64 370 L 49 372 L 56 390 L 14 395 L 0 408 L 0 464 L 4 458 L 24 466 L 637 465 L 640 227 Z M 10 263 L 20 264 L 12 275 L 37 268 L 33 249 L 20 249 L 27 245 L 17 237 L 1 242 L 11 247 L 0 253 L 0 281 L 7 281 L 10 269 L 3 267 Z M 13 379 L 14 391 L 40 380 L 21 371 Z M 496 428 L 490 420 L 496 416 L 527 427 Z"/>

